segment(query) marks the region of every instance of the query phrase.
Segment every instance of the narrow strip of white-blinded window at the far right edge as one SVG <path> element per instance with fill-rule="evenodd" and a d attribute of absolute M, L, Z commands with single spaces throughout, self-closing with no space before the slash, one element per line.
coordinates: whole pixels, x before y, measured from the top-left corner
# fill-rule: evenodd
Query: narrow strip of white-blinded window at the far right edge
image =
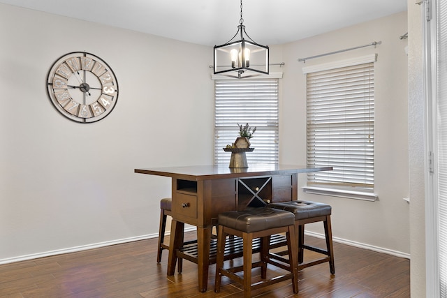
<path fill-rule="evenodd" d="M 424 24 L 428 39 L 425 40 L 425 59 L 429 58 L 425 60 L 429 61 L 425 68 L 431 70 L 431 75 L 425 73 L 425 80 L 432 90 L 436 88 L 434 98 L 429 89 L 425 90 L 427 106 L 430 107 L 427 115 L 431 123 L 431 133 L 427 136 L 429 144 L 425 149 L 430 152 L 431 160 L 432 154 L 436 154 L 434 163 L 425 168 L 431 167 L 431 173 L 425 176 L 429 192 L 425 196 L 425 204 L 432 217 L 429 218 L 427 214 L 426 218 L 426 229 L 430 229 L 427 230 L 427 242 L 430 244 L 427 248 L 427 278 L 431 277 L 427 279 L 427 297 L 447 297 L 447 5 L 445 1 L 434 1 L 424 3 L 424 6 L 424 11 L 430 8 L 430 11 L 436 12 L 433 14 L 434 20 Z M 431 48 L 434 42 L 436 50 Z M 433 66 L 434 63 L 436 66 Z"/>

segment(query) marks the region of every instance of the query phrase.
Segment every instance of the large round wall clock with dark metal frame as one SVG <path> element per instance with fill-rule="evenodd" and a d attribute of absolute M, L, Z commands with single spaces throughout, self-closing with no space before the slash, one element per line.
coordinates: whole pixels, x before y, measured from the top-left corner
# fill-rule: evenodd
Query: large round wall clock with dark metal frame
<path fill-rule="evenodd" d="M 71 52 L 57 59 L 48 73 L 47 91 L 61 114 L 80 123 L 104 119 L 118 100 L 112 68 L 87 52 Z"/>

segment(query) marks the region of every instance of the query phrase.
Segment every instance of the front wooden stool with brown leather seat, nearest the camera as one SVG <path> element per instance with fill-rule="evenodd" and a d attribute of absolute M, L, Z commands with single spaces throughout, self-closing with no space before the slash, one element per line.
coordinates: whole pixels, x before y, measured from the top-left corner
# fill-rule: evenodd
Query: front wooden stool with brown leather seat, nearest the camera
<path fill-rule="evenodd" d="M 249 208 L 244 211 L 228 211 L 218 216 L 217 232 L 217 260 L 216 260 L 216 280 L 214 292 L 220 291 L 221 277 L 227 276 L 233 281 L 242 284 L 244 297 L 251 297 L 251 290 L 261 288 L 272 283 L 292 279 L 293 292 L 298 293 L 298 260 L 297 260 L 297 239 L 295 234 L 295 216 L 291 212 L 281 211 L 271 208 Z M 270 258 L 269 251 L 270 236 L 272 234 L 286 233 L 288 244 L 289 260 L 286 264 L 281 264 Z M 234 235 L 243 239 L 244 264 L 239 267 L 223 269 L 223 259 L 225 253 L 226 236 Z M 261 238 L 260 241 L 260 261 L 252 263 L 253 239 Z M 286 269 L 290 273 L 267 278 L 267 265 Z M 263 281 L 251 283 L 251 269 L 261 267 L 261 278 Z M 244 271 L 241 278 L 237 272 Z"/>

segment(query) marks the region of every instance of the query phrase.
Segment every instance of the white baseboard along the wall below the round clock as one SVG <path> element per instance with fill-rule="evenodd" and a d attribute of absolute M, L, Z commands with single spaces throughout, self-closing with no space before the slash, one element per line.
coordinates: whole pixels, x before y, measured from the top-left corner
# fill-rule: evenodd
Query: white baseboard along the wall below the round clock
<path fill-rule="evenodd" d="M 192 230 L 196 230 L 196 227 L 184 229 L 185 232 L 189 232 Z M 170 232 L 166 231 L 166 236 L 168 236 L 169 234 L 170 234 Z M 95 244 L 75 246 L 75 247 L 71 247 L 71 248 L 58 249 L 55 251 L 46 251 L 43 253 L 33 253 L 31 255 L 21 255 L 21 256 L 13 257 L 13 258 L 0 259 L 0 265 L 9 264 L 9 263 L 13 263 L 13 262 L 26 261 L 26 260 L 34 260 L 34 259 L 38 259 L 38 258 L 45 258 L 45 257 L 50 257 L 52 255 L 62 255 L 64 253 L 75 253 L 78 251 L 87 251 L 87 250 L 93 249 L 93 248 L 100 248 L 100 247 L 104 247 L 104 246 L 123 244 L 123 243 L 157 238 L 157 237 L 159 237 L 159 233 L 146 234 L 146 235 L 142 235 L 142 236 L 138 236 L 138 237 L 129 237 L 129 238 L 124 238 L 124 239 L 112 240 L 112 241 L 105 241 L 105 242 L 100 242 L 100 243 L 95 243 Z"/>

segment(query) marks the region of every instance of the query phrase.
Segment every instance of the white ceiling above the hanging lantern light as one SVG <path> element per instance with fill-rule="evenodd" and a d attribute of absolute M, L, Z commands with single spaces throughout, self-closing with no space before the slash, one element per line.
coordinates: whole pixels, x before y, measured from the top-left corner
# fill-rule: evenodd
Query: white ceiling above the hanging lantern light
<path fill-rule="evenodd" d="M 200 45 L 237 31 L 240 0 L 0 0 L 15 6 Z M 244 0 L 244 25 L 263 45 L 300 40 L 406 11 L 407 0 Z M 405 32 L 402 32 L 404 34 Z"/>

